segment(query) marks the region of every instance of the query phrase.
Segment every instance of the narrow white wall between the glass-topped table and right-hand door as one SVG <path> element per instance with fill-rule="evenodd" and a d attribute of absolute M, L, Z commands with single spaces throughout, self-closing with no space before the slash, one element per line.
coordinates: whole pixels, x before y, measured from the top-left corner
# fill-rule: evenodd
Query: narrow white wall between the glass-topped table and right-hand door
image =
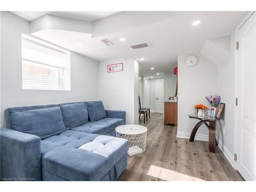
<path fill-rule="evenodd" d="M 230 55 L 228 59 L 218 66 L 217 87 L 218 94 L 221 96 L 221 102 L 225 103 L 225 110 L 222 119 L 218 121 L 217 138 L 225 145 L 231 158 L 234 154 L 234 108 L 235 108 L 235 32 L 231 34 L 231 43 L 229 42 Z M 228 42 L 227 42 L 228 43 Z M 226 47 L 226 46 L 225 46 Z"/>

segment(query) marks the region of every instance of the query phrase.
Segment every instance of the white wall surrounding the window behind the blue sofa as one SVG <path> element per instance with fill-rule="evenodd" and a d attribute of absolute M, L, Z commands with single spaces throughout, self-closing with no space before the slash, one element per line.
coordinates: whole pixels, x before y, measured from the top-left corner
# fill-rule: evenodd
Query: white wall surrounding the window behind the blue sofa
<path fill-rule="evenodd" d="M 30 25 L 10 12 L 1 15 L 1 124 L 12 106 L 89 101 L 98 98 L 97 61 L 71 52 L 71 91 L 22 90 L 21 33 Z"/>

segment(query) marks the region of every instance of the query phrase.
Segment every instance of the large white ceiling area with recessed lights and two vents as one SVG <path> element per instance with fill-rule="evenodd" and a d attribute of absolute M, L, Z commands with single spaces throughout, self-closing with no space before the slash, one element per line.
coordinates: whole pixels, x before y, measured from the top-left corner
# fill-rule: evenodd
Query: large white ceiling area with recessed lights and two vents
<path fill-rule="evenodd" d="M 75 12 L 72 15 L 80 13 Z M 70 12 L 64 14 L 67 16 Z M 140 63 L 140 75 L 157 78 L 164 72 L 173 71 L 179 54 L 198 53 L 206 39 L 231 34 L 246 14 L 247 12 L 230 11 L 175 12 L 170 18 L 93 38 L 91 34 L 56 29 L 44 29 L 33 35 L 98 61 L 120 57 L 136 59 Z M 114 15 L 116 25 L 118 15 Z M 191 25 L 195 20 L 201 20 L 201 23 L 197 26 Z M 120 41 L 120 37 L 126 40 Z M 114 46 L 106 46 L 101 42 L 102 38 L 108 38 Z M 131 45 L 143 42 L 148 42 L 150 47 L 137 50 L 130 48 Z M 78 44 L 83 46 L 79 47 Z M 151 70 L 152 67 L 154 70 Z"/>

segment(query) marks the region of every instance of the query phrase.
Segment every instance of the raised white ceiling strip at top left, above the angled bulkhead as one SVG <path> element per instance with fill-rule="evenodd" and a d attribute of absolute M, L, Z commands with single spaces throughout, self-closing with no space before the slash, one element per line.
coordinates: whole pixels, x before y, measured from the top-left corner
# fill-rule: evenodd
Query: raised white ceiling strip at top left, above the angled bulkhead
<path fill-rule="evenodd" d="M 25 18 L 29 22 L 35 20 L 44 15 L 55 15 L 61 17 L 68 17 L 80 20 L 87 20 L 93 22 L 110 15 L 119 13 L 120 11 L 11 11 L 13 14 L 19 17 Z"/>

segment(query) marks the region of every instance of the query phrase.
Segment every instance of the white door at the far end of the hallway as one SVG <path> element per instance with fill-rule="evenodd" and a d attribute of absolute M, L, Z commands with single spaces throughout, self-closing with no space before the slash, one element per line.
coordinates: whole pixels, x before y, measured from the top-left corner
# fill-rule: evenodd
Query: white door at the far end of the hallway
<path fill-rule="evenodd" d="M 164 111 L 164 95 L 163 95 L 163 78 L 156 79 L 156 112 L 163 113 Z"/>

